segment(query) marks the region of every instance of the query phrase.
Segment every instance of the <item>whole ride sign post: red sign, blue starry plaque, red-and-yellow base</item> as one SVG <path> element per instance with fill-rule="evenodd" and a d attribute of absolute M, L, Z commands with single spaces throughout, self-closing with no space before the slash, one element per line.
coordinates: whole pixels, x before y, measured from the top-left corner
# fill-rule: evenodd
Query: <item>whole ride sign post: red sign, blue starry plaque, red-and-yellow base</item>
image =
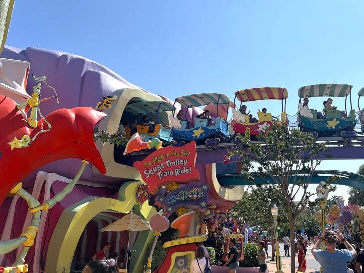
<path fill-rule="evenodd" d="M 195 258 L 196 248 L 207 239 L 204 221 L 214 217 L 214 212 L 208 209 L 209 186 L 195 183 L 180 186 L 200 180 L 195 162 L 196 143 L 191 141 L 184 146 L 159 148 L 143 161 L 133 164 L 148 185 L 154 206 L 160 208 L 158 216 L 155 217 L 169 217 L 174 212 L 178 214 L 171 227 L 179 230 L 179 238 L 164 243 L 163 247 L 168 248 L 168 252 L 155 272 L 188 272 Z M 161 189 L 163 186 L 165 189 Z M 165 225 L 156 228 L 156 239 L 160 231 L 166 228 Z M 154 246 L 155 243 L 156 241 Z M 151 269 L 151 256 L 152 254 L 148 259 L 147 272 Z"/>

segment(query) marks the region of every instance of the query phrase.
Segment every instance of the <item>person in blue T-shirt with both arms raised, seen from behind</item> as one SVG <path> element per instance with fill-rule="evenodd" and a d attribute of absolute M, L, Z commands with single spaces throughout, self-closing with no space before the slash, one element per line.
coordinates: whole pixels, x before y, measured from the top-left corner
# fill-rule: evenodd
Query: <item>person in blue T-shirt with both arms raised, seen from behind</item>
<path fill-rule="evenodd" d="M 312 247 L 313 257 L 320 263 L 322 273 L 343 273 L 347 271 L 347 263 L 356 256 L 356 251 L 347 239 L 338 231 L 326 229 Z M 327 250 L 321 250 L 321 242 L 325 241 Z M 336 249 L 336 242 L 345 244 L 346 249 Z"/>

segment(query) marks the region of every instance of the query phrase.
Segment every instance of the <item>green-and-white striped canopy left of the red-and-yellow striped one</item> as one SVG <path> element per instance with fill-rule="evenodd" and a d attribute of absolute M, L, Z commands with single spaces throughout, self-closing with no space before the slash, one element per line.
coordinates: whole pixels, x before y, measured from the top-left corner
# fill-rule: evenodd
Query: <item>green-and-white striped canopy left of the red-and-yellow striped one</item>
<path fill-rule="evenodd" d="M 227 104 L 231 102 L 226 95 L 214 94 L 214 93 L 193 94 L 175 99 L 175 101 L 179 102 L 181 105 L 186 107 L 197 107 L 210 104 L 217 104 L 218 100 L 219 104 L 220 103 Z"/>

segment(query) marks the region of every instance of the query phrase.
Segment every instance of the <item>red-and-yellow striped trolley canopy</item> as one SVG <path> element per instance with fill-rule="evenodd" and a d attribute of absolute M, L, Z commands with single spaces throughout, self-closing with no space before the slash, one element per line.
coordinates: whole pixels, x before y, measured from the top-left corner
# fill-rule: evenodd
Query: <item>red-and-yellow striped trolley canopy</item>
<path fill-rule="evenodd" d="M 235 92 L 241 102 L 258 100 L 283 100 L 288 98 L 288 91 L 282 87 L 258 87 Z"/>

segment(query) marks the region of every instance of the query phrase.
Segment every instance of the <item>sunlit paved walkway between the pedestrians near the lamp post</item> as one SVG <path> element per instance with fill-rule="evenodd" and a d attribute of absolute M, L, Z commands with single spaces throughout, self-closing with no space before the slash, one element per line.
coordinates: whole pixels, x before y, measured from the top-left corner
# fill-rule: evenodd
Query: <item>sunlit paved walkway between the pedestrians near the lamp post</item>
<path fill-rule="evenodd" d="M 306 273 L 317 272 L 317 271 L 319 271 L 319 268 L 320 268 L 320 264 L 314 259 L 314 257 L 311 254 L 311 246 L 308 247 L 307 254 L 306 254 L 306 263 L 307 263 Z M 283 244 L 280 244 L 279 249 L 280 249 L 280 253 L 281 253 L 281 257 L 282 257 L 282 266 L 283 266 L 284 273 L 290 273 L 291 272 L 291 269 L 290 269 L 291 257 L 284 256 Z M 271 246 L 269 245 L 268 246 L 267 264 L 268 264 L 269 272 L 274 273 L 275 271 L 277 271 L 276 262 L 271 261 L 271 258 L 272 258 L 271 255 L 272 255 L 272 249 L 271 249 Z M 296 272 L 297 272 L 297 269 L 298 269 L 298 257 L 297 256 L 296 256 L 295 267 L 296 267 Z"/>

